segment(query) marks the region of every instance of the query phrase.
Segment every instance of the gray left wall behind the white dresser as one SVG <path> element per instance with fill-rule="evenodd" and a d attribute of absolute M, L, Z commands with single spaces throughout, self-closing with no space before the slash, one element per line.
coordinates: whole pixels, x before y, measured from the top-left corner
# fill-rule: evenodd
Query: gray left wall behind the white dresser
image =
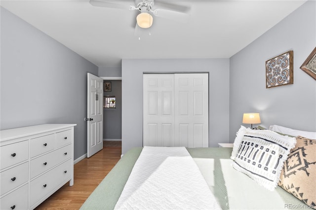
<path fill-rule="evenodd" d="M 98 67 L 1 7 L 0 129 L 76 123 L 75 159 L 87 152 L 87 72 Z"/>

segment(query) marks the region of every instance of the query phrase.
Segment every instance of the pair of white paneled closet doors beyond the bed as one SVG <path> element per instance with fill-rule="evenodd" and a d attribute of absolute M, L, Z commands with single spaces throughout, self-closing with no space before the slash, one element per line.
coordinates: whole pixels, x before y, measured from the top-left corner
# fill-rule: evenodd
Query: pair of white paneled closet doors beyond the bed
<path fill-rule="evenodd" d="M 208 147 L 208 73 L 143 75 L 143 145 Z"/>

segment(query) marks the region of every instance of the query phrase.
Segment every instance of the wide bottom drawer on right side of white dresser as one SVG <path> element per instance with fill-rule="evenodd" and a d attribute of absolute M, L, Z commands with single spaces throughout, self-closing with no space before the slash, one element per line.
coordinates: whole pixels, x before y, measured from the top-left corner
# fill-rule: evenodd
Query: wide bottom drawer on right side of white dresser
<path fill-rule="evenodd" d="M 41 175 L 31 181 L 30 185 L 30 203 L 33 206 L 42 197 L 47 195 L 55 187 L 65 180 L 70 180 L 72 171 L 72 161 L 68 160 L 65 163 L 57 166 L 51 171 Z"/>

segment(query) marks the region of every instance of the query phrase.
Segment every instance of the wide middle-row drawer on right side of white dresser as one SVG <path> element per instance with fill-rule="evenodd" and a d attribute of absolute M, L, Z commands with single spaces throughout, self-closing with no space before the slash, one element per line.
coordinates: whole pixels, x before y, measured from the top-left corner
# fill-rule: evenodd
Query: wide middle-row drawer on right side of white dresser
<path fill-rule="evenodd" d="M 31 178 L 71 158 L 72 144 L 31 160 Z"/>

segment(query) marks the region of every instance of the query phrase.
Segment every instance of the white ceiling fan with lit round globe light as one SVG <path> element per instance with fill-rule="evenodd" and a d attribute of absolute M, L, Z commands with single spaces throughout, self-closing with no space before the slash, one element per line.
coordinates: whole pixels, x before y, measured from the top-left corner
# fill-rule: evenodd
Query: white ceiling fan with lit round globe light
<path fill-rule="evenodd" d="M 153 16 L 185 21 L 190 7 L 177 5 L 167 0 L 90 0 L 93 6 L 139 10 L 136 27 L 147 29 L 153 25 Z"/>

